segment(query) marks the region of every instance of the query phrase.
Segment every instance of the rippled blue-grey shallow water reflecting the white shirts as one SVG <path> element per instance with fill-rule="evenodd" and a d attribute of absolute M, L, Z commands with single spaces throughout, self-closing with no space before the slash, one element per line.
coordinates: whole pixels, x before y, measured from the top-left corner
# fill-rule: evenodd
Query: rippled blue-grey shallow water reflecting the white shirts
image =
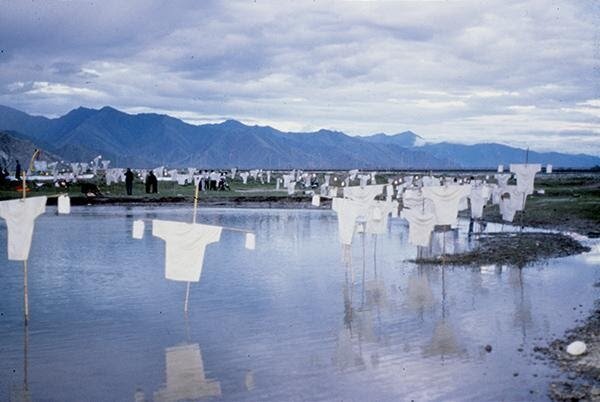
<path fill-rule="evenodd" d="M 190 217 L 49 207 L 31 249 L 27 332 L 22 264 L 7 262 L 0 223 L 0 400 L 545 400 L 558 371 L 533 346 L 598 296 L 595 244 L 523 270 L 417 267 L 396 219 L 376 244 L 359 237 L 348 265 L 331 211 L 204 209 L 199 222 L 255 230 L 256 250 L 223 232 L 186 318 L 164 242 L 150 225 L 132 239 L 131 225 Z"/>

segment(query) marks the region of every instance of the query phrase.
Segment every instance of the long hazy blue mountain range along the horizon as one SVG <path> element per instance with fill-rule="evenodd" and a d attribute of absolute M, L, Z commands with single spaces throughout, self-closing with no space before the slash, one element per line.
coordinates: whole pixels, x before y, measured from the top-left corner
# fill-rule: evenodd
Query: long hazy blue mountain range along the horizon
<path fill-rule="evenodd" d="M 112 166 L 130 167 L 470 169 L 525 160 L 522 149 L 493 143 L 429 144 L 410 131 L 353 137 L 330 130 L 286 133 L 235 120 L 195 126 L 166 115 L 130 115 L 111 107 L 80 107 L 49 119 L 0 106 L 0 131 L 4 163 L 22 152 L 24 143 L 19 141 L 66 161 L 102 155 Z M 595 156 L 556 152 L 529 152 L 528 160 L 569 168 L 600 165 Z"/>

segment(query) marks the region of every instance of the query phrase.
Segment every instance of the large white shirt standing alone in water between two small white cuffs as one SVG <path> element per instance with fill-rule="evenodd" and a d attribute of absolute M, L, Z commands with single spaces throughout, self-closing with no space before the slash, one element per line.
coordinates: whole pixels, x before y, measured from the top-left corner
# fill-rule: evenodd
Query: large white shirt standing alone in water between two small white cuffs
<path fill-rule="evenodd" d="M 220 226 L 153 220 L 152 234 L 166 243 L 165 278 L 198 282 L 206 246 L 218 242 L 221 231 Z"/>

